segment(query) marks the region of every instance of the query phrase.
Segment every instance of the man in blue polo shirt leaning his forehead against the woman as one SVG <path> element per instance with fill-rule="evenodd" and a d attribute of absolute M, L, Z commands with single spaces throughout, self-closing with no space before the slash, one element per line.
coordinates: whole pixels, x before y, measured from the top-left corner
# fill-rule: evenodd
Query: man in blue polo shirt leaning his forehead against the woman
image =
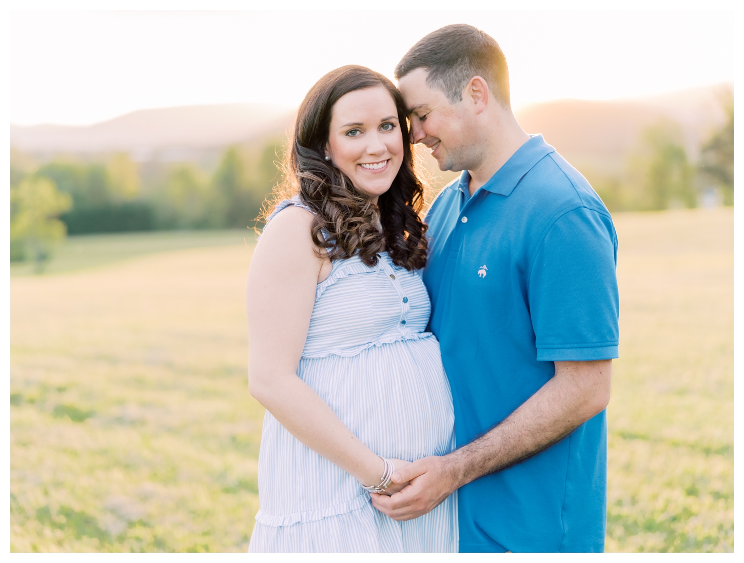
<path fill-rule="evenodd" d="M 396 520 L 458 490 L 461 551 L 602 551 L 618 242 L 587 181 L 510 108 L 506 60 L 469 25 L 395 70 L 413 142 L 463 170 L 429 210 L 424 281 L 458 448 L 394 474 Z"/>

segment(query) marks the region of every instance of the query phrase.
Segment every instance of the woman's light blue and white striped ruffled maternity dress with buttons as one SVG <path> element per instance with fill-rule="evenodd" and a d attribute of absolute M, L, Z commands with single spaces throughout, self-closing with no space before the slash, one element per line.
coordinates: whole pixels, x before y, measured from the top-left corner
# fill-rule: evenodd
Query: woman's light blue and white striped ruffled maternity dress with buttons
<path fill-rule="evenodd" d="M 285 200 L 269 221 L 288 205 Z M 307 207 L 305 207 L 307 209 Z M 269 228 L 269 225 L 267 225 Z M 429 294 L 387 253 L 377 266 L 336 260 L 318 283 L 297 375 L 347 428 L 383 457 L 413 461 L 452 451 L 452 394 L 439 342 L 424 332 Z M 260 510 L 249 552 L 456 552 L 457 495 L 397 522 L 368 492 L 268 411 L 258 456 Z"/>

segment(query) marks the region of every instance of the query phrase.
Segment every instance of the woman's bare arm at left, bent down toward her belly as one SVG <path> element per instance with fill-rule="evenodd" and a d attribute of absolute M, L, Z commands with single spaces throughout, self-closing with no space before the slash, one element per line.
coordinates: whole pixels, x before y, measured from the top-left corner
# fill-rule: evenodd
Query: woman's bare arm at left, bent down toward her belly
<path fill-rule="evenodd" d="M 375 485 L 385 469 L 382 460 L 296 374 L 315 286 L 321 269 L 328 269 L 327 259 L 315 254 L 311 222 L 306 210 L 289 207 L 272 219 L 256 245 L 248 273 L 248 387 L 304 445 L 365 485 Z M 404 465 L 395 462 L 396 469 Z"/>

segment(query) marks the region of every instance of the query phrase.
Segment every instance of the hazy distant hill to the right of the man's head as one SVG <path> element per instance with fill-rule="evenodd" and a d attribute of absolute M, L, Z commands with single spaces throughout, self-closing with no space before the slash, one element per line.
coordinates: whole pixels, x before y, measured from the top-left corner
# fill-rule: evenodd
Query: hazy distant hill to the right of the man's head
<path fill-rule="evenodd" d="M 527 106 L 516 118 L 528 133 L 542 133 L 582 172 L 622 173 L 643 130 L 663 118 L 682 126 L 687 153 L 696 159 L 711 129 L 723 123 L 722 97 L 731 85 L 632 100 L 555 100 Z"/>

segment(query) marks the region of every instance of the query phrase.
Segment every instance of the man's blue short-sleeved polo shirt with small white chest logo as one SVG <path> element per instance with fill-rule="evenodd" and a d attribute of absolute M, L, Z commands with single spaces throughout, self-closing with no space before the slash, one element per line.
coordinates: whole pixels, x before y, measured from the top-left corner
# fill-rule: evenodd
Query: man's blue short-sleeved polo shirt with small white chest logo
<path fill-rule="evenodd" d="M 618 238 L 591 189 L 534 135 L 472 197 L 469 174 L 427 215 L 423 280 L 455 402 L 458 447 L 554 376 L 618 357 Z M 602 551 L 606 414 L 459 489 L 461 551 Z"/>

